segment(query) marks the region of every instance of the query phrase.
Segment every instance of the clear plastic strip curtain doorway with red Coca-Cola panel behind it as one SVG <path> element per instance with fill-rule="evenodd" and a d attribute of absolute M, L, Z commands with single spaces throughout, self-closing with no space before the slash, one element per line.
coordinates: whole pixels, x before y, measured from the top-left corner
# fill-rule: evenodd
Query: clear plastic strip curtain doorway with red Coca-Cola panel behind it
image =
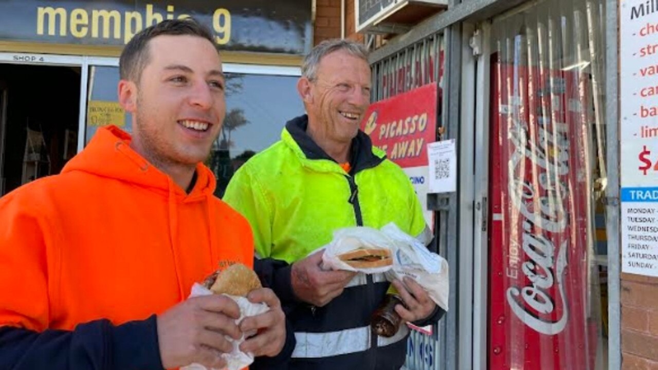
<path fill-rule="evenodd" d="M 492 370 L 607 366 L 604 15 L 540 1 L 492 24 Z"/>

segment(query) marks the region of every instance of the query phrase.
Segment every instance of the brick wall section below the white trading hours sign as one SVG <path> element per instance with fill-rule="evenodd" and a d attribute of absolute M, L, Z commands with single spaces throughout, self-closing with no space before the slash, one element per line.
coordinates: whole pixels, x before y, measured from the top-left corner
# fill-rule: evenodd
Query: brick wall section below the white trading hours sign
<path fill-rule="evenodd" d="M 621 276 L 622 369 L 658 370 L 658 278 Z"/>

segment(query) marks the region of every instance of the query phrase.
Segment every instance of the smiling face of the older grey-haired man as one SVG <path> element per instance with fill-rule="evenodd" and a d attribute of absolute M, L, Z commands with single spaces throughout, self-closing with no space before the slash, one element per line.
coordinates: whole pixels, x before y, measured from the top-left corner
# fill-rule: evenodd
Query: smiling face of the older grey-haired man
<path fill-rule="evenodd" d="M 309 130 L 320 134 L 321 142 L 349 145 L 370 105 L 370 66 L 338 50 L 322 57 L 316 71 L 313 81 L 301 78 L 299 84 Z"/>

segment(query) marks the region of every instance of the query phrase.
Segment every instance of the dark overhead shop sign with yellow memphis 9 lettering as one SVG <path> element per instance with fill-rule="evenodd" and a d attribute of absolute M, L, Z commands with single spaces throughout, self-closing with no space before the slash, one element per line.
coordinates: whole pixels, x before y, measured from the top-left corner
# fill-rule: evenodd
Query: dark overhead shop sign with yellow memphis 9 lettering
<path fill-rule="evenodd" d="M 311 0 L 3 0 L 0 40 L 124 45 L 166 19 L 193 17 L 224 50 L 303 55 L 311 48 Z"/>

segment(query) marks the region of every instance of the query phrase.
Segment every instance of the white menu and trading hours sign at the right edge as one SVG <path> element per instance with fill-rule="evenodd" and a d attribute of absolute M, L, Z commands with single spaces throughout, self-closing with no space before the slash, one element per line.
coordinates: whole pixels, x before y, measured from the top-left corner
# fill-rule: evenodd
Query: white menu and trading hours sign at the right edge
<path fill-rule="evenodd" d="M 620 3 L 622 271 L 658 276 L 658 0 Z"/>

